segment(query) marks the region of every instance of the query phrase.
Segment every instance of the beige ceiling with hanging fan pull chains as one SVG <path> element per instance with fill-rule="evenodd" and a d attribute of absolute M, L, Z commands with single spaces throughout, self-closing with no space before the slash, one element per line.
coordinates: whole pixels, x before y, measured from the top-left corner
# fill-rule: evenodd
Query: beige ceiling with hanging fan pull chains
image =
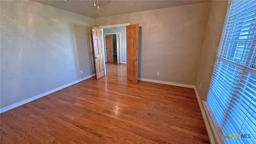
<path fill-rule="evenodd" d="M 210 0 L 99 0 L 99 9 L 97 9 L 97 0 L 95 0 L 96 7 L 94 7 L 94 0 L 70 0 L 70 2 L 64 0 L 32 1 L 89 16 L 91 18 L 99 18 L 145 10 L 168 8 L 172 6 L 209 2 Z"/>

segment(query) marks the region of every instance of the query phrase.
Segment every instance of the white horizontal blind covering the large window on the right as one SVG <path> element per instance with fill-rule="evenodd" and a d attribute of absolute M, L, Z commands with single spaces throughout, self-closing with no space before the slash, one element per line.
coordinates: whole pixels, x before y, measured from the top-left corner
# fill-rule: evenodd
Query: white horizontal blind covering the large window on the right
<path fill-rule="evenodd" d="M 207 97 L 229 144 L 256 144 L 255 45 L 256 0 L 232 0 Z"/>

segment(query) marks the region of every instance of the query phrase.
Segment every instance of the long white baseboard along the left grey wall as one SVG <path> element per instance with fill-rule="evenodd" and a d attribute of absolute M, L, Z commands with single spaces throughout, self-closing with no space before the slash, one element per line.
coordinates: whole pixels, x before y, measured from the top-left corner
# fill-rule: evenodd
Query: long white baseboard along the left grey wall
<path fill-rule="evenodd" d="M 76 84 L 76 83 L 78 83 L 78 82 L 82 82 L 83 80 L 87 80 L 88 78 L 91 78 L 91 77 L 93 77 L 93 76 L 95 76 L 95 75 L 96 75 L 96 74 L 92 74 L 92 75 L 87 76 L 87 77 L 85 77 L 85 78 L 81 78 L 80 80 L 76 80 L 76 81 L 71 82 L 71 83 L 69 83 L 69 84 L 65 84 L 64 86 L 60 86 L 60 87 L 55 88 L 55 89 L 53 89 L 53 90 L 49 90 L 48 92 L 44 92 L 44 93 L 42 93 L 42 94 L 38 94 L 37 96 L 33 96 L 33 97 L 28 98 L 28 99 L 26 99 L 26 100 L 22 100 L 21 102 L 17 102 L 17 103 L 15 103 L 15 104 L 10 105 L 10 106 L 6 106 L 6 107 L 4 107 L 4 108 L 1 108 L 1 109 L 0 109 L 0 114 L 2 114 L 3 112 L 7 112 L 8 110 L 12 110 L 12 109 L 14 109 L 14 108 L 17 108 L 17 107 L 19 107 L 19 106 L 22 106 L 22 105 L 24 105 L 24 104 L 27 104 L 27 103 L 29 103 L 29 102 L 32 102 L 32 101 L 34 101 L 34 100 L 37 100 L 38 98 L 42 98 L 42 97 L 44 97 L 44 96 L 47 96 L 47 95 L 49 95 L 49 94 L 52 94 L 52 93 L 57 92 L 57 91 L 59 91 L 59 90 L 62 90 L 63 88 L 66 88 L 66 87 L 71 86 L 71 85 L 73 85 L 73 84 Z"/>

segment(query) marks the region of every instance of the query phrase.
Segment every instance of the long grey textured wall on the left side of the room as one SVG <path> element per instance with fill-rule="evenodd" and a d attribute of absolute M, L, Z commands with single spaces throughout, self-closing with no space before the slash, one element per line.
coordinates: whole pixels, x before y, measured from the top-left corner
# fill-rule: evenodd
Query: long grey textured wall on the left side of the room
<path fill-rule="evenodd" d="M 0 2 L 0 108 L 94 73 L 93 18 L 32 1 Z"/>

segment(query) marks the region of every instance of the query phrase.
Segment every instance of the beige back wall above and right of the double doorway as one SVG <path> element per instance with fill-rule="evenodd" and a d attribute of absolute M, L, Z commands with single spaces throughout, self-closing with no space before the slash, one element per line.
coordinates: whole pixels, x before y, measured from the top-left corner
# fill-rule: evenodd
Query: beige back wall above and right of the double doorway
<path fill-rule="evenodd" d="M 139 77 L 195 84 L 209 2 L 95 18 L 96 26 L 139 24 Z M 160 72 L 160 76 L 157 76 Z"/>

